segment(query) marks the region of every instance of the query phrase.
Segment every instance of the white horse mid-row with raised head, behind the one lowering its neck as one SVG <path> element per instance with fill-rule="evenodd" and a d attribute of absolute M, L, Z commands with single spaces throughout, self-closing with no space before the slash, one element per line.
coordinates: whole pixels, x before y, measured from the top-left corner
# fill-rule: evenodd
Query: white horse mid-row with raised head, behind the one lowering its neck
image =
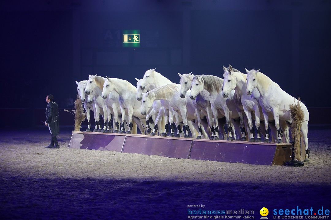
<path fill-rule="evenodd" d="M 146 87 L 150 87 L 150 89 L 155 89 L 157 87 L 160 87 L 162 85 L 166 85 L 172 83 L 169 79 L 167 79 L 166 77 L 162 76 L 160 73 L 156 72 L 155 69 L 153 70 L 147 70 L 144 74 L 143 79 L 141 79 L 140 81 L 140 86 L 137 87 L 137 100 L 140 101 L 141 100 L 141 93 L 142 91 L 144 91 L 146 89 Z M 169 102 L 166 100 L 161 100 L 161 105 L 164 109 L 164 116 L 165 116 L 165 132 L 161 134 L 162 137 L 166 137 L 166 134 L 168 133 L 168 122 L 170 122 L 170 126 L 174 127 L 177 126 L 179 124 L 175 124 L 173 122 L 173 116 L 177 116 L 178 112 L 175 112 L 172 110 L 172 108 L 169 105 Z M 172 116 L 170 116 L 170 114 Z M 158 117 L 155 121 L 155 124 L 158 123 L 158 121 L 161 118 L 161 115 L 163 115 L 163 113 L 160 111 L 158 114 Z M 181 121 L 179 119 L 179 121 Z M 174 124 L 172 124 L 174 123 Z M 177 123 L 177 120 L 176 120 Z M 154 128 L 155 129 L 155 128 Z M 171 129 L 171 128 L 170 128 Z M 171 136 L 173 134 L 173 132 L 170 132 Z M 179 133 L 181 133 L 181 130 L 179 131 Z M 179 137 L 179 133 L 177 132 L 176 137 Z"/>

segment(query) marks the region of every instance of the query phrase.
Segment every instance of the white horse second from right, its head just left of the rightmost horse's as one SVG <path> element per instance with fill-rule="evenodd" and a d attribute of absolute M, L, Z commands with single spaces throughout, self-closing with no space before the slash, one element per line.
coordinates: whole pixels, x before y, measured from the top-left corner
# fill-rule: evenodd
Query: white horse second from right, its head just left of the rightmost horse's
<path fill-rule="evenodd" d="M 264 124 L 260 124 L 260 120 L 264 120 L 263 119 L 263 114 L 262 114 L 262 109 L 261 106 L 259 105 L 259 98 L 260 98 L 260 93 L 259 91 L 255 88 L 253 89 L 252 93 L 254 93 L 254 95 L 247 95 L 246 94 L 246 86 L 247 86 L 247 74 L 241 73 L 240 71 L 232 68 L 232 66 L 230 65 L 229 68 L 225 68 L 223 66 L 224 69 L 224 74 L 223 74 L 223 78 L 224 78 L 224 84 L 223 84 L 223 90 L 222 90 L 222 95 L 223 97 L 227 97 L 227 95 L 230 93 L 230 91 L 232 89 L 235 90 L 235 93 L 238 95 L 238 97 L 241 97 L 241 103 L 243 105 L 243 110 L 247 116 L 248 119 L 248 124 L 249 124 L 249 129 L 248 131 L 250 131 L 250 141 L 258 141 L 261 142 L 261 126 L 262 129 L 264 129 Z M 255 139 L 255 131 L 253 128 L 253 122 L 252 122 L 252 111 L 253 116 L 255 116 L 255 126 L 257 128 L 257 139 Z M 269 114 L 269 121 L 273 119 L 273 116 L 271 114 Z M 285 131 L 287 131 L 287 135 L 285 135 L 285 141 L 287 143 L 289 143 L 289 132 L 288 132 L 288 127 L 287 124 L 285 122 L 282 122 L 282 126 L 284 128 Z M 272 134 L 275 135 L 277 137 L 277 130 L 274 124 L 269 123 L 269 127 L 272 131 Z M 268 142 L 268 136 L 266 136 L 266 139 L 264 140 L 265 142 Z"/>

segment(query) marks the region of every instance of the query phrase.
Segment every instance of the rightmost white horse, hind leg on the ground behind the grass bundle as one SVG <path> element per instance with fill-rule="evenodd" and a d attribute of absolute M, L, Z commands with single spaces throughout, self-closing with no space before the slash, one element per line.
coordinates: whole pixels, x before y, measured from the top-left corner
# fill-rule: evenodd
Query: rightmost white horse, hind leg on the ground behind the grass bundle
<path fill-rule="evenodd" d="M 247 95 L 252 94 L 252 90 L 257 88 L 260 92 L 259 103 L 262 108 L 263 117 L 264 117 L 264 126 L 267 129 L 268 127 L 268 112 L 271 112 L 274 120 L 275 126 L 278 131 L 278 140 L 277 143 L 282 143 L 282 129 L 279 126 L 279 120 L 292 123 L 290 105 L 296 105 L 299 100 L 295 99 L 284 90 L 282 90 L 277 83 L 272 81 L 269 77 L 260 73 L 259 70 L 251 70 L 247 72 Z M 304 138 L 306 154 L 305 162 L 308 162 L 309 150 L 308 150 L 308 120 L 309 113 L 305 104 L 300 102 L 300 106 L 304 111 L 304 121 L 301 126 L 301 133 Z"/>

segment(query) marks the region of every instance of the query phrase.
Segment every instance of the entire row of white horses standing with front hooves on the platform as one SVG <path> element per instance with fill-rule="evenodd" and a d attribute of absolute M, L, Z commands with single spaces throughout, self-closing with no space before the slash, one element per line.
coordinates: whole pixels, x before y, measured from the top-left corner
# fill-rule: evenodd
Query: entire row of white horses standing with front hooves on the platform
<path fill-rule="evenodd" d="M 228 68 L 223 66 L 223 69 L 224 79 L 212 75 L 178 74 L 180 84 L 171 82 L 155 69 L 146 71 L 142 79 L 136 79 L 136 87 L 123 79 L 97 75 L 89 75 L 88 80 L 76 81 L 76 84 L 85 110 L 94 111 L 95 132 L 110 132 L 113 124 L 114 133 L 124 133 L 127 130 L 126 133 L 131 134 L 137 125 L 141 133 L 145 134 L 145 127 L 150 128 L 149 119 L 152 116 L 155 125 L 153 127 L 152 124 L 153 131 L 150 135 L 159 132 L 161 136 L 166 136 L 169 122 L 170 137 L 188 138 L 191 133 L 193 138 L 199 139 L 218 140 L 220 135 L 223 139 L 235 140 L 237 131 L 241 141 L 246 141 L 249 137 L 250 141 L 268 142 L 272 137 L 272 141 L 282 143 L 284 131 L 284 138 L 288 143 L 289 124 L 292 123 L 289 106 L 299 101 L 259 70 L 245 69 L 247 74 L 244 74 L 231 65 Z M 301 133 L 307 161 L 309 113 L 303 103 L 300 102 L 300 105 L 305 114 Z M 99 129 L 100 114 L 106 122 L 103 129 Z M 90 129 L 89 114 L 87 116 Z M 121 116 L 120 126 L 118 116 Z M 124 123 L 125 120 L 128 126 Z M 224 130 L 225 124 L 228 134 Z M 268 127 L 272 135 L 269 134 Z M 264 139 L 261 134 L 263 129 Z"/>

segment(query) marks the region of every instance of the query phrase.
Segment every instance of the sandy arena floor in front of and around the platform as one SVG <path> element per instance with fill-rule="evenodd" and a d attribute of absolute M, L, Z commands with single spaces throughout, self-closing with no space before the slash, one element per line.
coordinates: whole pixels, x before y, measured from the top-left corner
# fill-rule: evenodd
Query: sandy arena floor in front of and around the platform
<path fill-rule="evenodd" d="M 72 149 L 71 128 L 60 130 L 60 149 L 44 148 L 46 128 L 1 130 L 1 219 L 188 219 L 199 209 L 190 205 L 254 210 L 255 219 L 262 207 L 269 219 L 274 209 L 331 209 L 325 127 L 309 127 L 310 162 L 299 168 Z"/>

